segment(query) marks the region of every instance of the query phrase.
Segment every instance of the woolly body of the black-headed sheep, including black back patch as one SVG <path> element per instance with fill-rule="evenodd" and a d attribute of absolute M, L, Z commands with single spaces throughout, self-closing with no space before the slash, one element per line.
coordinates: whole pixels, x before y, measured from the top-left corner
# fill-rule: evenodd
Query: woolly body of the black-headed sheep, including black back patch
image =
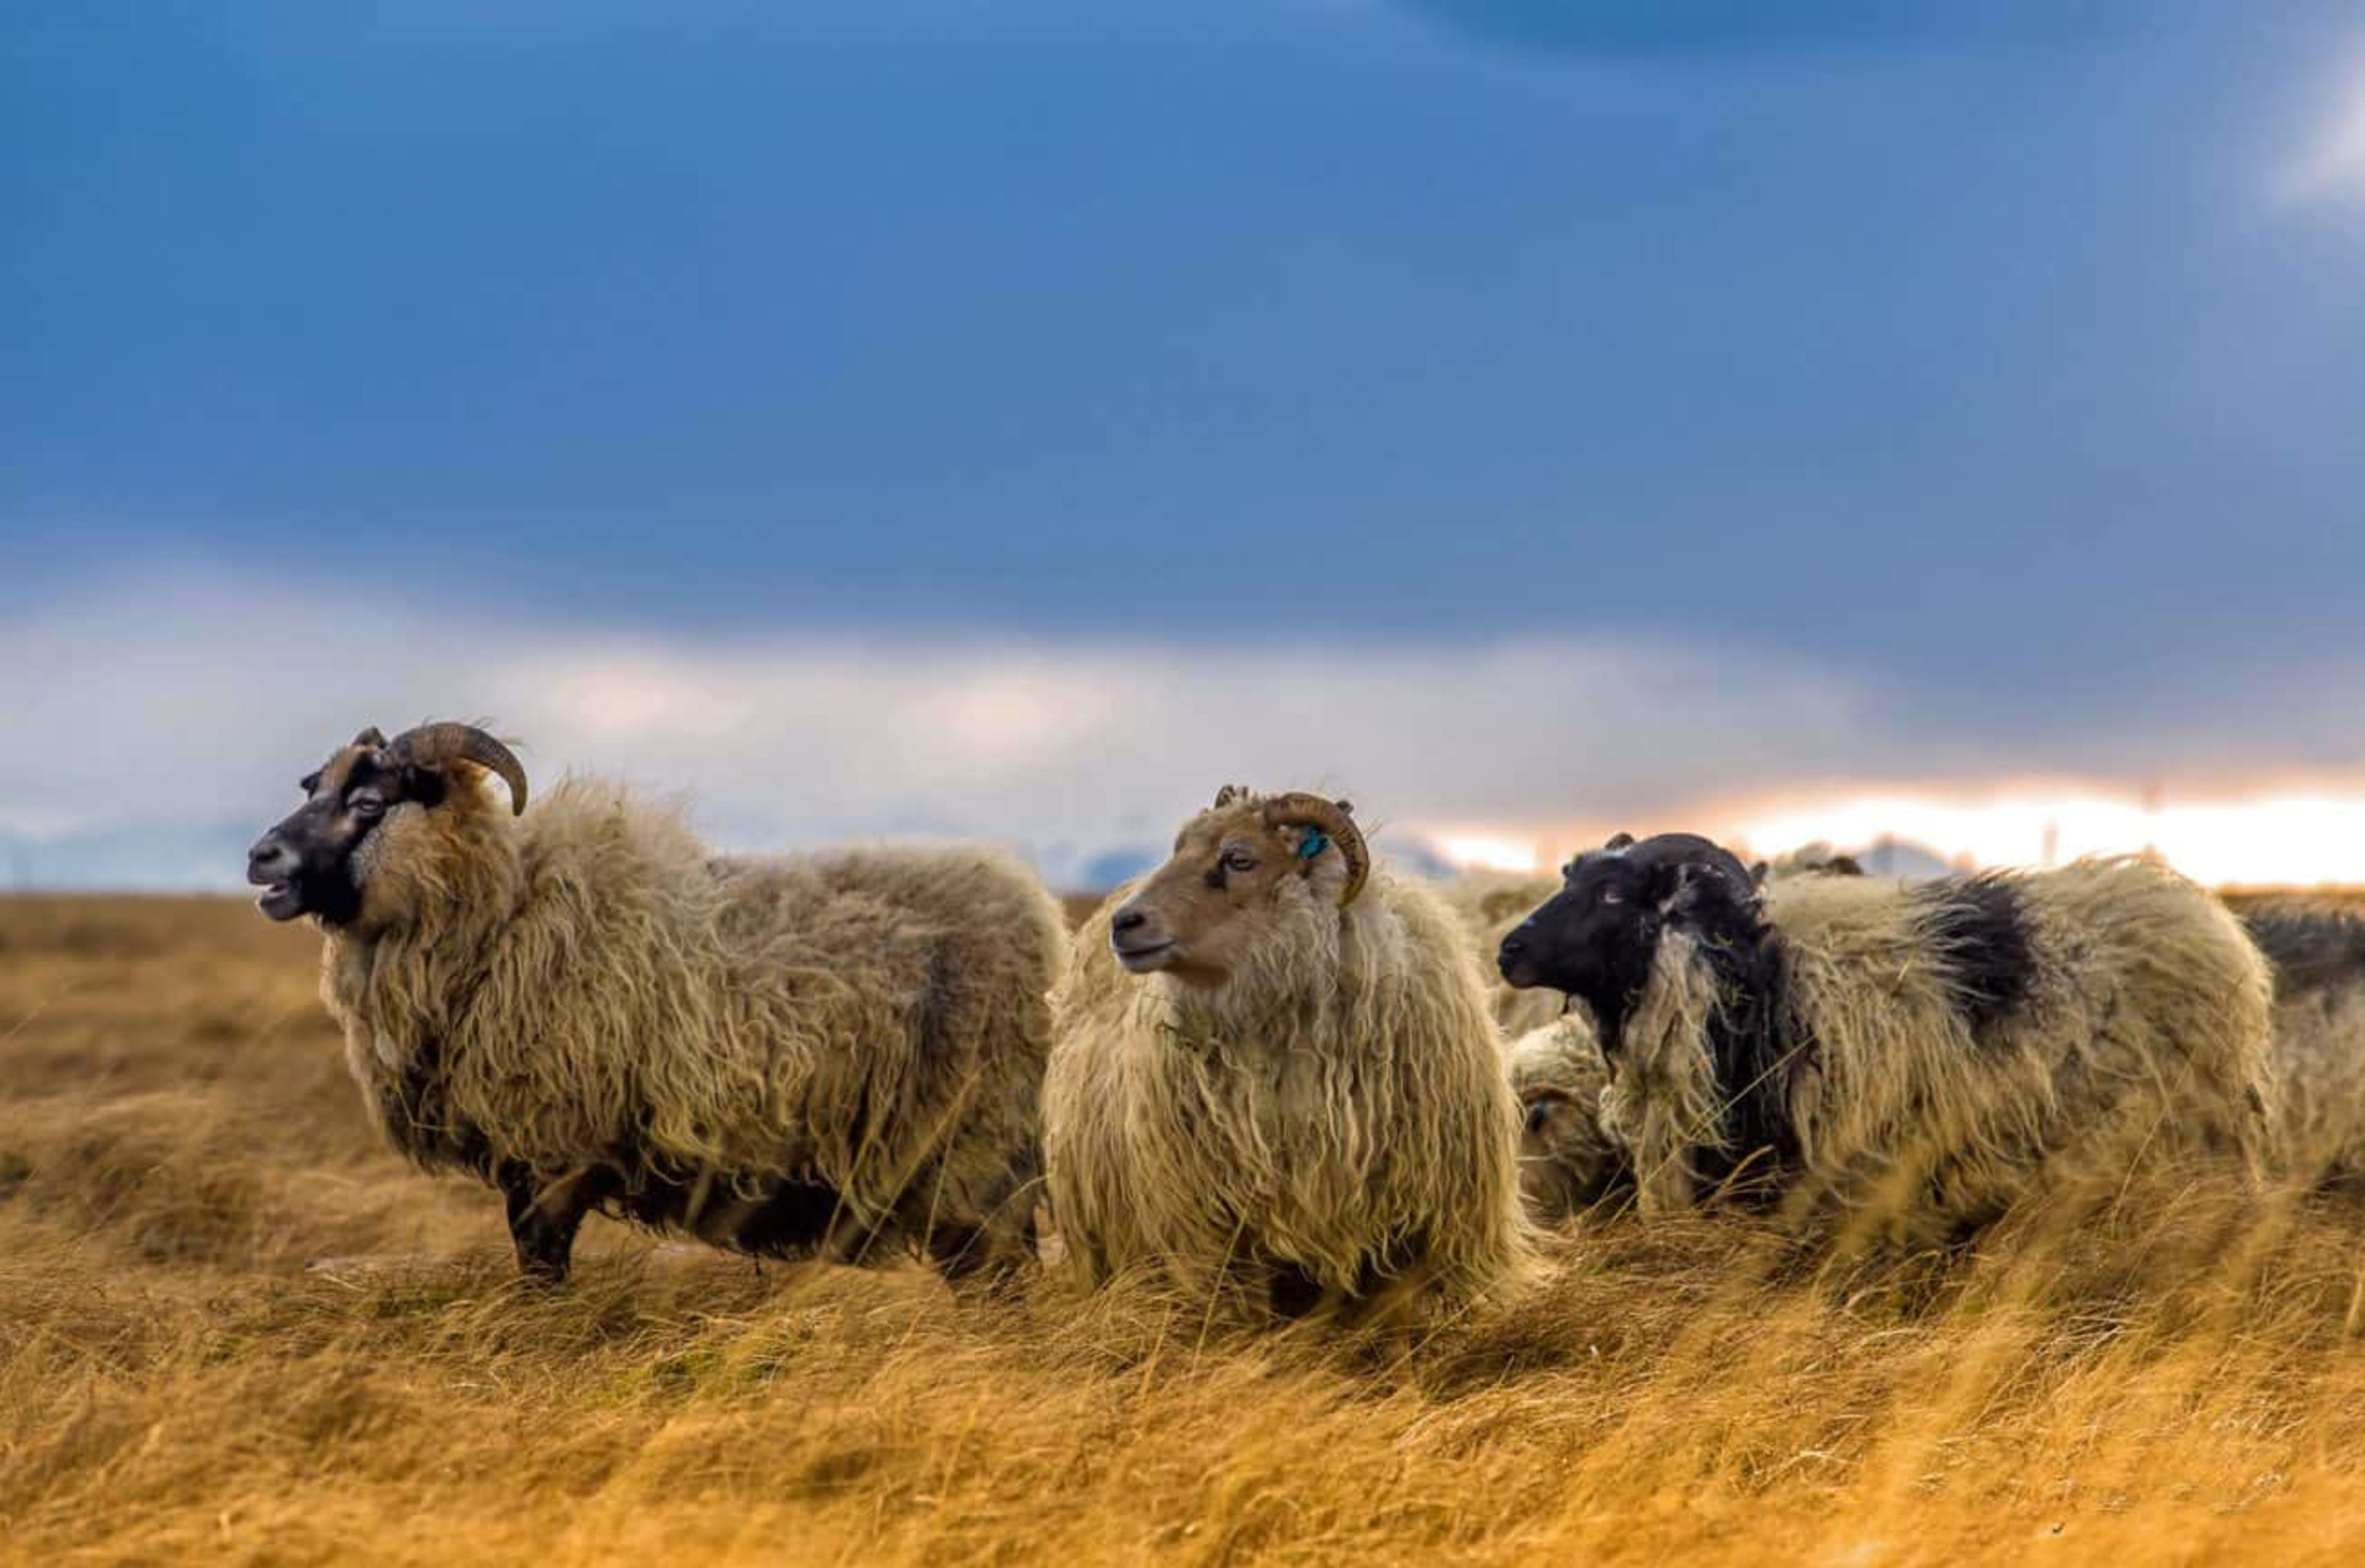
<path fill-rule="evenodd" d="M 1812 877 L 1769 889 L 1767 915 L 1800 1142 L 1859 1209 L 1944 1232 L 2138 1154 L 2256 1161 L 2263 965 L 2183 877 Z"/>

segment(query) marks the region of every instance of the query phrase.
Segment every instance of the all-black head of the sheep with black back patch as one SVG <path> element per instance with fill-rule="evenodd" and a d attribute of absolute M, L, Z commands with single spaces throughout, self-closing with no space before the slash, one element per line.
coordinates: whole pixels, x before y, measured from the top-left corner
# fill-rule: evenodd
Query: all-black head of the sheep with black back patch
<path fill-rule="evenodd" d="M 1495 955 L 1511 986 L 1585 1000 L 1615 1041 L 1667 929 L 1736 939 L 1757 927 L 1757 887 L 1729 851 L 1691 832 L 1618 835 L 1568 863 L 1563 887 L 1511 927 Z"/>

